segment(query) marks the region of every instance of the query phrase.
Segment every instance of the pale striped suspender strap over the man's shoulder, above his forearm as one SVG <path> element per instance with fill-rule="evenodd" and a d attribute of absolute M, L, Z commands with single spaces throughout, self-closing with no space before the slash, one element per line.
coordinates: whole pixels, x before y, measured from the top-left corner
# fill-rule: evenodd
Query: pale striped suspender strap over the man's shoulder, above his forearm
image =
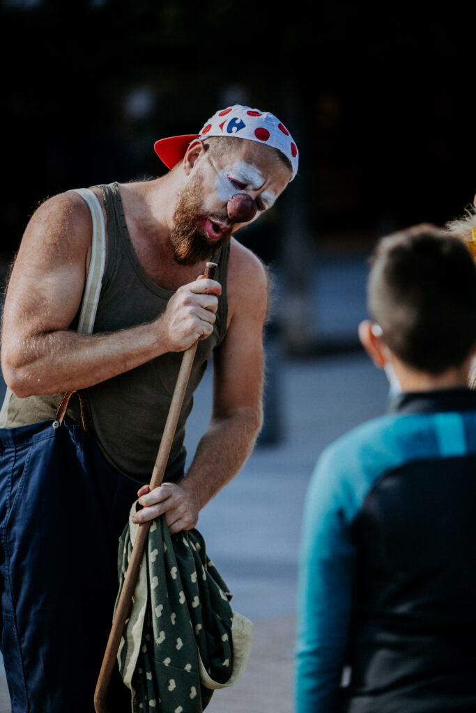
<path fill-rule="evenodd" d="M 81 332 L 81 334 L 91 334 L 98 309 L 104 266 L 106 265 L 106 225 L 104 223 L 101 203 L 93 191 L 89 188 L 74 188 L 73 190 L 75 193 L 79 193 L 88 204 L 93 221 L 91 262 L 89 263 L 83 304 L 81 305 L 78 322 L 78 332 Z"/>

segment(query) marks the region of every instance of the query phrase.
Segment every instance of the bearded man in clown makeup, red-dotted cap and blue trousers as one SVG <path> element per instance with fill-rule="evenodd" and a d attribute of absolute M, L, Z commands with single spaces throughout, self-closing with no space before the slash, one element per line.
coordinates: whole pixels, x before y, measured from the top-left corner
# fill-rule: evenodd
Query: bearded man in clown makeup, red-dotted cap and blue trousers
<path fill-rule="evenodd" d="M 91 709 L 131 504 L 143 506 L 138 522 L 165 514 L 171 533 L 193 528 L 260 429 L 268 284 L 235 235 L 293 180 L 298 150 L 278 118 L 244 106 L 155 150 L 170 169 L 161 178 L 46 200 L 11 271 L 0 502 L 13 713 Z M 214 279 L 202 277 L 208 260 Z M 197 339 L 164 482 L 149 492 L 182 354 Z M 186 419 L 211 356 L 213 414 L 185 471 Z"/>

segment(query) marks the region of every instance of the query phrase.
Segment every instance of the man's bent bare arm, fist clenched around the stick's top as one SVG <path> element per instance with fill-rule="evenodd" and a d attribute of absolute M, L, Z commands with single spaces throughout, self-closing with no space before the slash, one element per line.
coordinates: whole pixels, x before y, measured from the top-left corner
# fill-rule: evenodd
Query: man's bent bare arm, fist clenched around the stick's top
<path fill-rule="evenodd" d="M 91 246 L 82 198 L 46 201 L 26 228 L 4 306 L 1 364 L 17 396 L 73 391 L 180 352 L 211 334 L 221 287 L 196 280 L 179 288 L 153 322 L 85 336 L 69 329 L 81 304 Z"/>

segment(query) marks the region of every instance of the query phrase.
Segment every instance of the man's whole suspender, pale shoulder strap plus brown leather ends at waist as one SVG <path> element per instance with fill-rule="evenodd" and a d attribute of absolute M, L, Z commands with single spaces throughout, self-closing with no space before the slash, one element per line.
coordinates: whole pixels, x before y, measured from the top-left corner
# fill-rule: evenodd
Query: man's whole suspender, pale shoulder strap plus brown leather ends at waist
<path fill-rule="evenodd" d="M 98 309 L 99 295 L 101 294 L 101 283 L 103 279 L 104 266 L 106 265 L 106 224 L 104 222 L 103 209 L 97 196 L 89 188 L 74 188 L 75 193 L 79 193 L 88 204 L 91 211 L 91 219 L 93 222 L 93 235 L 91 241 L 91 260 L 89 262 L 88 277 L 86 278 L 86 286 L 84 287 L 83 302 L 81 304 L 81 312 L 79 314 L 78 332 L 81 334 L 92 334 L 94 319 Z M 83 429 L 91 433 L 92 419 L 89 411 L 88 400 L 86 394 L 79 391 L 66 391 L 58 411 L 56 411 L 56 419 L 53 428 L 57 429 L 63 423 L 66 409 L 68 408 L 69 400 L 73 394 L 79 396 L 79 404 L 81 406 L 81 420 L 83 421 Z"/>

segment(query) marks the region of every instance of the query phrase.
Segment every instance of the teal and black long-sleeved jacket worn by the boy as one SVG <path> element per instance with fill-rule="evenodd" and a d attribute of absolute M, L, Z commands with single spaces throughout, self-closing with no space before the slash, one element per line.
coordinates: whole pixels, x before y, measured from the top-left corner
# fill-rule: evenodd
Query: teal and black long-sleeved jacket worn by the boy
<path fill-rule="evenodd" d="M 476 710 L 476 394 L 393 403 L 310 482 L 296 713 Z"/>

